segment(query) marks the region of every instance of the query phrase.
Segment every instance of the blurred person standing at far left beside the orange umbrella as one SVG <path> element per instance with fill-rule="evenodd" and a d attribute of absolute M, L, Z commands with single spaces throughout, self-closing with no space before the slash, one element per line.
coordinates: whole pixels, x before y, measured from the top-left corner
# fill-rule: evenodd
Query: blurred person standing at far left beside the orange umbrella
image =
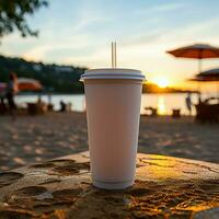
<path fill-rule="evenodd" d="M 19 87 L 18 87 L 18 77 L 15 73 L 11 72 L 9 76 L 9 82 L 7 84 L 7 89 L 5 89 L 5 97 L 8 100 L 8 104 L 9 104 L 9 111 L 10 114 L 13 118 L 13 120 L 15 120 L 15 111 L 16 111 L 16 104 L 14 102 L 14 95 L 19 92 Z"/>

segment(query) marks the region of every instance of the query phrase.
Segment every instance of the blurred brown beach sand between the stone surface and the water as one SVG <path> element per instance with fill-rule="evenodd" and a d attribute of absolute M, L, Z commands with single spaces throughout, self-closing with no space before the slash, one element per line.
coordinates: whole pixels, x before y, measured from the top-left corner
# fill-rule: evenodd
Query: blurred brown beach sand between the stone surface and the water
<path fill-rule="evenodd" d="M 219 163 L 219 126 L 141 116 L 138 151 Z M 84 113 L 0 117 L 0 171 L 88 150 Z"/>

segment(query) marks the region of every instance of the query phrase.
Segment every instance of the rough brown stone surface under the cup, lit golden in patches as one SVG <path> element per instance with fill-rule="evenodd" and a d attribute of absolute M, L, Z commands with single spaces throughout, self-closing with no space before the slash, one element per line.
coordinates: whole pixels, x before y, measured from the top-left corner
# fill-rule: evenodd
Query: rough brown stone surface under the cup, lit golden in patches
<path fill-rule="evenodd" d="M 88 152 L 0 174 L 0 218 L 219 218 L 219 165 L 138 154 L 135 186 L 91 184 Z"/>

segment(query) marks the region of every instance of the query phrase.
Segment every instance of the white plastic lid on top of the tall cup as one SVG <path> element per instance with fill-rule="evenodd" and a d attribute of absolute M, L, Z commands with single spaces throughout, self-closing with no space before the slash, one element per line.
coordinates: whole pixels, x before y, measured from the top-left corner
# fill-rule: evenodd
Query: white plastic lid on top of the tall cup
<path fill-rule="evenodd" d="M 87 70 L 81 76 L 81 81 L 85 79 L 135 79 L 145 80 L 146 77 L 139 70 L 124 68 L 103 68 Z"/>

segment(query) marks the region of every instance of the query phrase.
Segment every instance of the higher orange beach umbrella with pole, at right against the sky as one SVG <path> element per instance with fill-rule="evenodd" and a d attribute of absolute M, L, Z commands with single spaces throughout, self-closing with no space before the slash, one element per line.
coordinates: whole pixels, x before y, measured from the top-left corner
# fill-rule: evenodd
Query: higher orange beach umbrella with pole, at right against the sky
<path fill-rule="evenodd" d="M 201 60 L 205 58 L 219 58 L 219 47 L 208 44 L 194 44 L 166 51 L 176 58 L 198 59 L 198 73 L 201 72 Z"/>

